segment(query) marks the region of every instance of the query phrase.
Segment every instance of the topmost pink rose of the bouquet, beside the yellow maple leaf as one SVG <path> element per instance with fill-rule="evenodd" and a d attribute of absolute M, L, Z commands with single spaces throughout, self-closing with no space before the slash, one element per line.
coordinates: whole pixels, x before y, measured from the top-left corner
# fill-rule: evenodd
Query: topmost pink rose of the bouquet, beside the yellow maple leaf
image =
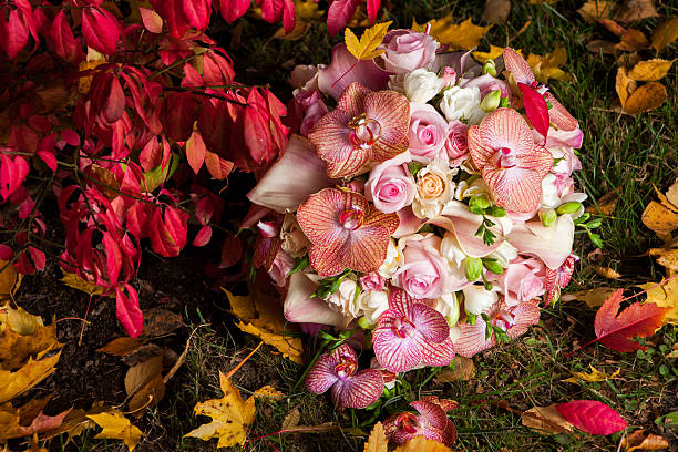
<path fill-rule="evenodd" d="M 412 30 L 391 30 L 380 48 L 383 68 L 396 74 L 412 72 L 419 68 L 429 69 L 435 60 L 438 42 L 429 34 Z"/>

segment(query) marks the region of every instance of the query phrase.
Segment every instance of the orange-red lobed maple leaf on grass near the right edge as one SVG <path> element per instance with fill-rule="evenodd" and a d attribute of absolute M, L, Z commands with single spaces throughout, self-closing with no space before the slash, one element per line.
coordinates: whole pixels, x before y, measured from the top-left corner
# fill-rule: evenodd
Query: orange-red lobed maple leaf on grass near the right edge
<path fill-rule="evenodd" d="M 645 350 L 646 347 L 630 339 L 653 336 L 657 328 L 661 327 L 664 316 L 669 308 L 660 308 L 653 302 L 635 302 L 617 315 L 622 305 L 622 294 L 623 289 L 617 290 L 596 312 L 594 322 L 596 337 L 613 350 Z"/>

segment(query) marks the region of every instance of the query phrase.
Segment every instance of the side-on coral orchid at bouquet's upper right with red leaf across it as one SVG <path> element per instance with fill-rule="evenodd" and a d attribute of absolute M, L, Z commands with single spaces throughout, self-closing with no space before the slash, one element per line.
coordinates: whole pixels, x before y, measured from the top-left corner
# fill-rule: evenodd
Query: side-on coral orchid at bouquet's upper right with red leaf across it
<path fill-rule="evenodd" d="M 547 91 L 545 85 L 538 85 L 530 64 L 523 56 L 515 50 L 506 48 L 504 49 L 504 64 L 523 93 L 525 114 L 544 138 L 548 134 L 549 124 L 564 131 L 577 129 L 577 120 Z M 548 103 L 551 109 L 548 109 Z"/>

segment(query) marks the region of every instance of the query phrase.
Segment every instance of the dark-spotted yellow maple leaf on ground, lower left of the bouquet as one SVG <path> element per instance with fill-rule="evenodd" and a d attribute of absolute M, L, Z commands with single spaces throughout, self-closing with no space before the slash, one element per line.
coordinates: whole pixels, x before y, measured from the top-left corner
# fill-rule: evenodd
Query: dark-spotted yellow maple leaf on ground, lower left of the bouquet
<path fill-rule="evenodd" d="M 244 401 L 240 391 L 222 372 L 219 372 L 219 386 L 224 392 L 222 399 L 197 403 L 194 409 L 194 414 L 207 415 L 212 418 L 212 422 L 198 427 L 184 436 L 204 441 L 218 438 L 217 448 L 245 444 L 247 427 L 255 418 L 255 397 Z"/>

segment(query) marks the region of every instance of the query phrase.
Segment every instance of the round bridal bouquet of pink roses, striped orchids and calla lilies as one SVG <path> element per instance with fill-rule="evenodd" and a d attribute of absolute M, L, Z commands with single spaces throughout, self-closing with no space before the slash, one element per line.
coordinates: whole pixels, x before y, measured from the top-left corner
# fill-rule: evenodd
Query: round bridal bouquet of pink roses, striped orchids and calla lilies
<path fill-rule="evenodd" d="M 481 65 L 413 30 L 389 31 L 367 60 L 349 50 L 292 72 L 296 134 L 248 194 L 244 226 L 289 321 L 373 349 L 359 370 L 348 342 L 335 347 L 306 379 L 339 408 L 366 408 L 399 372 L 536 323 L 569 282 L 586 195 L 572 178 L 577 120 L 514 50 Z M 415 403 L 444 417 L 443 402 Z M 391 438 L 417 424 L 408 414 L 387 422 Z"/>

